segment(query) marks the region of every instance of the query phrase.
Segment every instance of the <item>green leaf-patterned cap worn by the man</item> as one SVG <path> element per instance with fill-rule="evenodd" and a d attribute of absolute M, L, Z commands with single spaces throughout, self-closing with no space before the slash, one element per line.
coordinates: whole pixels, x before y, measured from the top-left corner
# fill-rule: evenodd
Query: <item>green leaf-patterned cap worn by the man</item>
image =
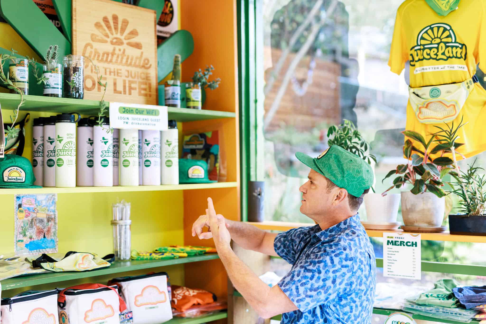
<path fill-rule="evenodd" d="M 364 190 L 373 186 L 371 166 L 340 146 L 332 145 L 316 158 L 300 152 L 295 153 L 295 157 L 355 197 L 361 197 Z"/>

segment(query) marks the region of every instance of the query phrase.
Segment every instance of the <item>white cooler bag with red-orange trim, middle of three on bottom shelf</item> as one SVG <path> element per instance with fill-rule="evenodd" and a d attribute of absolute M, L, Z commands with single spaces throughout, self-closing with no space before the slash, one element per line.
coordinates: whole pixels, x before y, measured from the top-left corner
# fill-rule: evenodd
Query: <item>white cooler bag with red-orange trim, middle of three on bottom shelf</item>
<path fill-rule="evenodd" d="M 126 309 L 116 286 L 101 284 L 84 284 L 62 290 L 57 302 L 60 324 L 120 324 L 120 312 Z"/>

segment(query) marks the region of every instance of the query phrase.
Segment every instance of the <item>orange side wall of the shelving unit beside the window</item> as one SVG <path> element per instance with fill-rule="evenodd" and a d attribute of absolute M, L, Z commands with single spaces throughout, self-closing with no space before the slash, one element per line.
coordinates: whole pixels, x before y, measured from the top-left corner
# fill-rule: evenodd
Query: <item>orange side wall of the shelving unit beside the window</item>
<path fill-rule="evenodd" d="M 240 139 L 238 108 L 238 56 L 236 1 L 181 1 L 181 28 L 191 32 L 194 52 L 183 63 L 182 81 L 190 81 L 194 71 L 212 65 L 211 77 L 221 78 L 216 90 L 206 91 L 205 109 L 236 113 L 235 119 L 218 119 L 185 123 L 183 132 L 197 131 L 213 125 L 223 130 L 226 152 L 227 180 L 238 181 L 238 188 L 193 190 L 184 192 L 184 242 L 191 245 L 214 246 L 211 240 L 200 241 L 191 236 L 192 223 L 204 214 L 207 197 L 211 197 L 217 213 L 231 220 L 240 220 Z M 209 80 L 212 80 L 210 78 Z M 188 264 L 185 267 L 188 287 L 210 290 L 226 298 L 227 277 L 220 260 L 208 261 L 203 267 Z"/>

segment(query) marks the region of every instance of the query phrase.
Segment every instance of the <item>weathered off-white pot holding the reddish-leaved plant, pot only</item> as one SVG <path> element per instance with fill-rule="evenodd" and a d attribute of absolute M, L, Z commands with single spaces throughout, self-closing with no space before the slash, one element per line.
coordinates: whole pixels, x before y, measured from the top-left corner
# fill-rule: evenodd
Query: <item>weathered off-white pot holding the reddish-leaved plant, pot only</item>
<path fill-rule="evenodd" d="M 441 226 L 444 220 L 446 198 L 431 192 L 414 195 L 401 192 L 401 214 L 406 226 Z"/>

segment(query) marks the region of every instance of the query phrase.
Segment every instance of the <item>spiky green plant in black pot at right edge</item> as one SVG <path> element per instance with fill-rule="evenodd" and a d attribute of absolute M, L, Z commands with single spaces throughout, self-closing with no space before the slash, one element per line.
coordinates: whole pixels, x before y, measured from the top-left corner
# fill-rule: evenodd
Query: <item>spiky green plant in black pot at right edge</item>
<path fill-rule="evenodd" d="M 486 177 L 479 175 L 483 168 L 468 165 L 467 172 L 451 173 L 455 182 L 451 182 L 451 193 L 460 198 L 461 214 L 449 215 L 449 229 L 452 235 L 486 236 Z"/>

